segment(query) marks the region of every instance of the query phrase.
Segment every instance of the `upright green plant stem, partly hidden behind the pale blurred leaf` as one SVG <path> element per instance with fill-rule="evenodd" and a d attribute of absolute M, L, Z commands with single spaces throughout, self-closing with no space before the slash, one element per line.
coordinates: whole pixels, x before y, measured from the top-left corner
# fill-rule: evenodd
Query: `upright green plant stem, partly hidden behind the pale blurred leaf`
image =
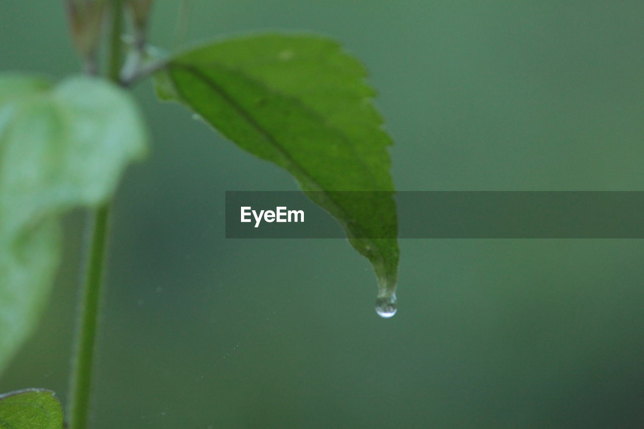
<path fill-rule="evenodd" d="M 121 64 L 121 40 L 123 28 L 123 1 L 112 0 L 112 28 L 109 47 L 108 77 L 118 83 Z M 93 213 L 87 267 L 79 301 L 79 319 L 76 329 L 73 367 L 70 385 L 70 429 L 85 429 L 90 410 L 91 375 L 99 324 L 101 283 L 107 249 L 109 202 Z"/>

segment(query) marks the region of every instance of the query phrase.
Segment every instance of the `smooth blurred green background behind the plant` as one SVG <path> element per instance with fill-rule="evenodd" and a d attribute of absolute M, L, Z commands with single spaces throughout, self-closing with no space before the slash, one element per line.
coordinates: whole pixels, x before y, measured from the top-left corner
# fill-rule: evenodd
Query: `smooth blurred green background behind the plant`
<path fill-rule="evenodd" d="M 0 3 L 0 69 L 79 65 L 60 1 Z M 151 41 L 172 46 L 178 2 Z M 307 30 L 368 66 L 401 190 L 644 190 L 641 1 L 194 1 L 187 40 Z M 399 312 L 345 240 L 225 240 L 225 190 L 294 190 L 137 88 L 93 428 L 644 426 L 641 240 L 403 240 Z M 83 214 L 0 390 L 66 401 Z M 420 214 L 419 214 L 420 215 Z"/>

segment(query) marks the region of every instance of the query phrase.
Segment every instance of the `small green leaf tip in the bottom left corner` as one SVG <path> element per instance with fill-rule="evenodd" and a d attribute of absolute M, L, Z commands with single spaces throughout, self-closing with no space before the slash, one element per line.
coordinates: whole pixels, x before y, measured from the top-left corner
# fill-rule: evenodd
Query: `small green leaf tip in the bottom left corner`
<path fill-rule="evenodd" d="M 62 407 L 51 390 L 26 389 L 0 395 L 0 428 L 61 429 Z"/>

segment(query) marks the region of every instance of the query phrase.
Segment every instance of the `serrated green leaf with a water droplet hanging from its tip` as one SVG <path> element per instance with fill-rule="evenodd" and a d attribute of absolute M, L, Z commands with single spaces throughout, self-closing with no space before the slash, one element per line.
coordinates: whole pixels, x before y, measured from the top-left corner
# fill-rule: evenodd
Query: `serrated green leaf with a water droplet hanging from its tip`
<path fill-rule="evenodd" d="M 334 41 L 258 35 L 175 57 L 158 73 L 156 88 L 238 146 L 287 169 L 370 260 L 382 298 L 392 297 L 396 286 L 397 240 L 382 237 L 396 236 L 397 218 L 391 140 L 365 76 Z"/>

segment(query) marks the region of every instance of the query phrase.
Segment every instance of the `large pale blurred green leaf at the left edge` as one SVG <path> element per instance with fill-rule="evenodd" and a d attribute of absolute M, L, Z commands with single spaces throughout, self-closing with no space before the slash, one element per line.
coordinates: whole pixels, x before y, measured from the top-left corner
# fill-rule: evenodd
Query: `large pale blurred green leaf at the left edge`
<path fill-rule="evenodd" d="M 60 214 L 106 202 L 146 139 L 131 97 L 106 81 L 0 76 L 0 370 L 43 309 Z"/>

